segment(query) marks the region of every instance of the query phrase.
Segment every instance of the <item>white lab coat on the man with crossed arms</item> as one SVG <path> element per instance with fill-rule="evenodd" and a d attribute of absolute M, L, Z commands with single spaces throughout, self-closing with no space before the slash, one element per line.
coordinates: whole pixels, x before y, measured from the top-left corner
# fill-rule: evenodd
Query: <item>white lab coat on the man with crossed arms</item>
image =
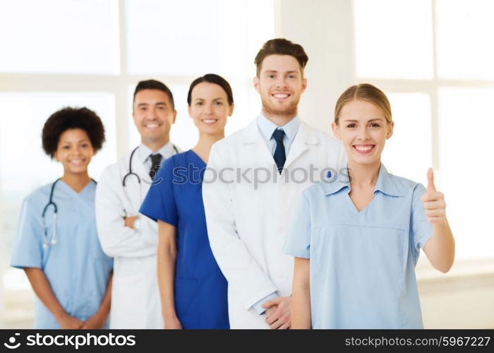
<path fill-rule="evenodd" d="M 141 215 L 140 229 L 125 227 L 123 217 L 139 215 L 140 204 L 150 189 L 149 170 L 135 151 L 104 169 L 96 190 L 97 230 L 104 253 L 114 257 L 110 328 L 163 328 L 157 282 L 157 223 Z"/>

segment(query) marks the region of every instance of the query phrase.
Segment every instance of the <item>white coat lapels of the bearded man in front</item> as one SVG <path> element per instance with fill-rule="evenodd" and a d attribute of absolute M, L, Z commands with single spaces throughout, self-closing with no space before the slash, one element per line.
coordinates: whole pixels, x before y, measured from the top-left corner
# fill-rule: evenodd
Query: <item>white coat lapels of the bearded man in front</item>
<path fill-rule="evenodd" d="M 242 131 L 242 140 L 246 145 L 253 145 L 255 152 L 262 158 L 264 162 L 272 164 L 274 162 L 270 150 L 261 136 L 258 128 L 258 121 L 254 119 L 251 124 L 248 124 L 246 128 Z M 296 160 L 305 150 L 308 149 L 308 145 L 317 145 L 319 143 L 318 136 L 315 134 L 315 129 L 311 128 L 303 121 L 300 121 L 299 131 L 296 133 L 294 142 L 291 145 L 290 151 L 287 155 L 287 161 L 284 167 L 289 167 L 289 165 Z"/>

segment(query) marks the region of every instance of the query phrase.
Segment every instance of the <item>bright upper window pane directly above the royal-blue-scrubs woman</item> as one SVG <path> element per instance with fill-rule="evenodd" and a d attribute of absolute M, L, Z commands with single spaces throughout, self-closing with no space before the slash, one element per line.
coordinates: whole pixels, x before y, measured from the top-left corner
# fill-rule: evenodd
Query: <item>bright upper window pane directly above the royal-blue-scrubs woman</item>
<path fill-rule="evenodd" d="M 273 2 L 265 0 L 127 0 L 128 71 L 253 76 L 256 52 L 273 37 L 273 18 Z"/>

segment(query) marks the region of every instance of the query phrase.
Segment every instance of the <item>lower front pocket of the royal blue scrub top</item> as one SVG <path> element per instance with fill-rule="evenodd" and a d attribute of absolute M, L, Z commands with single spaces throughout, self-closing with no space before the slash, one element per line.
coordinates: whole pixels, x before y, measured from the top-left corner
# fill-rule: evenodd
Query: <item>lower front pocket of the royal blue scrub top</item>
<path fill-rule="evenodd" d="M 175 309 L 183 328 L 200 325 L 199 282 L 194 279 L 175 279 Z"/>

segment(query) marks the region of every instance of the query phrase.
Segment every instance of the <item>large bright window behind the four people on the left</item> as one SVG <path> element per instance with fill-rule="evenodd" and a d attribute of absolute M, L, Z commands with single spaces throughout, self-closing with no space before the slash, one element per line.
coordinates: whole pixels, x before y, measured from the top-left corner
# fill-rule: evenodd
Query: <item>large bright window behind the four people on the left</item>
<path fill-rule="evenodd" d="M 272 0 L 0 0 L 0 327 L 32 319 L 25 275 L 7 265 L 23 198 L 61 174 L 41 148 L 48 116 L 68 105 L 100 115 L 107 142 L 90 164 L 95 179 L 139 143 L 131 118 L 139 80 L 169 85 L 178 112 L 171 141 L 186 150 L 198 137 L 188 85 L 224 76 L 235 100 L 227 134 L 236 131 L 260 111 L 253 60 L 274 37 L 274 8 Z"/>

